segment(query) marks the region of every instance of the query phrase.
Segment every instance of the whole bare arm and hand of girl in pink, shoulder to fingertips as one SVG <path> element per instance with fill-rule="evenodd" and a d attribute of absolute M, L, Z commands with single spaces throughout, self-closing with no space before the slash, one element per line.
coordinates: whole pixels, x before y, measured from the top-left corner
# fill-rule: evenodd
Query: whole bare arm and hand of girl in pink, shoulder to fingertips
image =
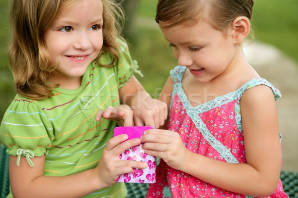
<path fill-rule="evenodd" d="M 270 196 L 281 170 L 278 115 L 267 86 L 247 90 L 240 101 L 247 163 L 226 163 L 193 153 L 172 131 L 148 130 L 141 137 L 148 154 L 171 167 L 225 190 L 254 197 Z M 178 136 L 177 136 L 177 135 Z"/>

